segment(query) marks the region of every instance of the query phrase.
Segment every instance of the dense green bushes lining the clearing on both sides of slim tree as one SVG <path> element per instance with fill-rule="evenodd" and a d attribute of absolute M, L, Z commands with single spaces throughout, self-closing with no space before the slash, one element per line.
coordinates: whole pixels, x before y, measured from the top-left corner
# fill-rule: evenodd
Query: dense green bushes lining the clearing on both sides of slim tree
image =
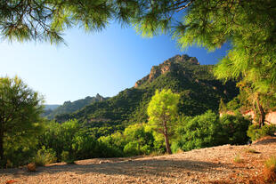
<path fill-rule="evenodd" d="M 171 124 L 174 128 L 169 126 L 171 135 L 174 135 L 171 136 L 171 148 L 176 152 L 179 149 L 187 151 L 223 144 L 245 144 L 248 142 L 249 124 L 243 116 L 218 117 L 211 111 L 200 116 L 181 116 L 178 122 Z M 89 135 L 89 131 L 79 125 L 76 120 L 48 124 L 39 139 L 38 161 L 47 162 L 57 158 L 58 161 L 73 163 L 76 159 L 166 152 L 164 135 L 157 132 L 152 124 L 132 124 L 122 132 L 114 132 L 99 139 Z"/>

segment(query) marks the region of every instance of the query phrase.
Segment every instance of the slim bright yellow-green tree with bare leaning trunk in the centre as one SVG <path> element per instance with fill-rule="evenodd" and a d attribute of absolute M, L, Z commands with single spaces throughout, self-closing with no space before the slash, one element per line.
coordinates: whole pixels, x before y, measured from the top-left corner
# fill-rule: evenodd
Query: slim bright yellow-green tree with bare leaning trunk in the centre
<path fill-rule="evenodd" d="M 177 115 L 177 103 L 180 99 L 179 94 L 173 93 L 171 90 L 158 90 L 151 98 L 148 107 L 148 115 L 150 116 L 149 124 L 155 126 L 155 130 L 164 135 L 166 143 L 166 152 L 172 154 L 169 144 L 169 130 Z"/>

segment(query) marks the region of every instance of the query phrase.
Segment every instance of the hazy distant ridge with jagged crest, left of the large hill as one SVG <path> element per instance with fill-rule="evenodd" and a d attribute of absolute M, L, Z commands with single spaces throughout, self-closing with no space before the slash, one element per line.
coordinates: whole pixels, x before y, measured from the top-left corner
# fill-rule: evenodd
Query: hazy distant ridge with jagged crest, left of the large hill
<path fill-rule="evenodd" d="M 95 97 L 86 97 L 85 99 L 76 100 L 76 101 L 65 101 L 63 105 L 53 108 L 52 106 L 45 106 L 45 114 L 44 116 L 48 119 L 53 119 L 54 116 L 67 114 L 75 112 L 81 108 L 85 108 L 85 106 L 92 104 L 93 102 L 99 102 L 103 100 L 107 100 L 108 98 L 102 97 L 100 94 L 97 94 Z"/>

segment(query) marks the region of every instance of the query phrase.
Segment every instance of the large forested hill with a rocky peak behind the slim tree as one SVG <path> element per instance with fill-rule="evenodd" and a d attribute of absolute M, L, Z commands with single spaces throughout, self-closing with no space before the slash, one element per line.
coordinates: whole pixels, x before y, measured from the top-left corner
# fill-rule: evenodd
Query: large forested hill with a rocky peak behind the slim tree
<path fill-rule="evenodd" d="M 212 74 L 213 65 L 199 65 L 188 55 L 176 55 L 150 70 L 134 87 L 119 92 L 71 114 L 56 116 L 58 122 L 77 118 L 89 127 L 101 124 L 134 124 L 147 122 L 146 109 L 154 92 L 169 88 L 181 95 L 180 114 L 196 116 L 207 109 L 218 111 L 220 100 L 227 102 L 238 95 L 234 82 L 223 84 Z"/>

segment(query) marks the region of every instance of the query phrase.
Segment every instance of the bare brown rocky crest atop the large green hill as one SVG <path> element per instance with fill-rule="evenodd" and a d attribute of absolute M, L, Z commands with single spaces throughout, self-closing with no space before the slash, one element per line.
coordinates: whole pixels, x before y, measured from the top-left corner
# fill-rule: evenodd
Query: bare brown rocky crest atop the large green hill
<path fill-rule="evenodd" d="M 199 65 L 199 60 L 195 57 L 190 57 L 187 54 L 176 55 L 173 58 L 165 60 L 158 66 L 153 66 L 150 69 L 150 75 L 143 77 L 139 81 L 137 81 L 134 87 L 139 87 L 141 84 L 146 82 L 152 82 L 155 78 L 160 75 L 166 74 L 167 72 L 172 72 L 177 69 L 179 64 L 187 64 L 187 65 Z"/>

